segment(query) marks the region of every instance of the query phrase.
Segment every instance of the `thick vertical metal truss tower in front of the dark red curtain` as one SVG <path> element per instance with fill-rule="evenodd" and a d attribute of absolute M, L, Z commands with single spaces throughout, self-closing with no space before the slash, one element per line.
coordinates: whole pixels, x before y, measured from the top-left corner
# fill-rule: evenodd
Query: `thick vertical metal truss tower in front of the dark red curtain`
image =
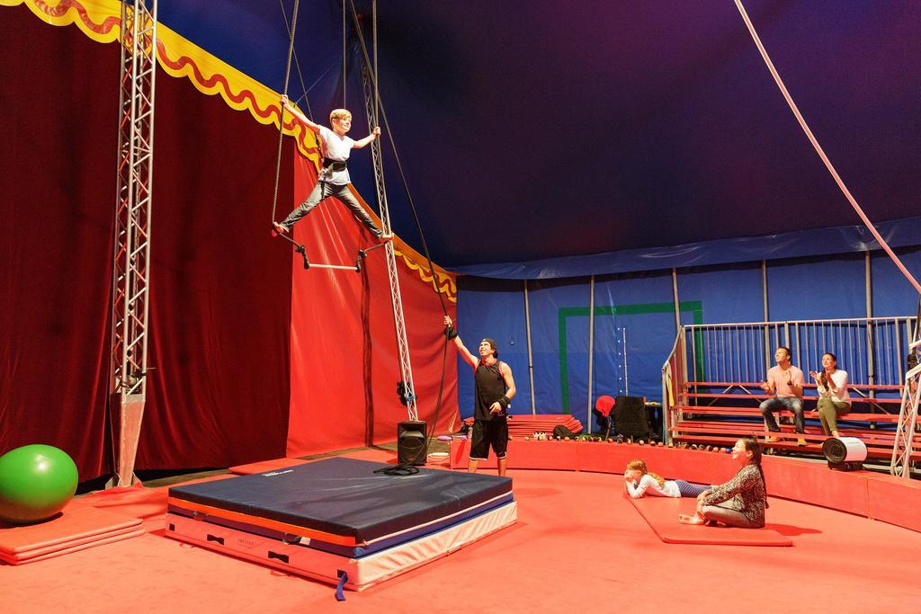
<path fill-rule="evenodd" d="M 130 486 L 146 402 L 157 0 L 122 1 L 110 400 L 114 482 Z"/>

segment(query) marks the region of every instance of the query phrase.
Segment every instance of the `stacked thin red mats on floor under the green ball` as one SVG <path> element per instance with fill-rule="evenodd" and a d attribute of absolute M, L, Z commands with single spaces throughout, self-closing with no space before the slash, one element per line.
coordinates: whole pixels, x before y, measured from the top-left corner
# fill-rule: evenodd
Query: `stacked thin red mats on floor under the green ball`
<path fill-rule="evenodd" d="M 61 516 L 25 527 L 0 525 L 0 561 L 11 565 L 43 561 L 144 534 L 131 518 L 72 501 Z"/>

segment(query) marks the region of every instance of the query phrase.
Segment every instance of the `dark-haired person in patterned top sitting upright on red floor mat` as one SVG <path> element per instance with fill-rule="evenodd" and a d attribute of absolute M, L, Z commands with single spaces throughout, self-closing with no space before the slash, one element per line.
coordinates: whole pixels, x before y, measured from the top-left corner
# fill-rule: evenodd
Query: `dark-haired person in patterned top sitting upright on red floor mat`
<path fill-rule="evenodd" d="M 742 465 L 736 476 L 698 495 L 694 516 L 681 514 L 678 522 L 685 525 L 721 523 L 729 527 L 764 527 L 767 489 L 764 487 L 764 471 L 761 470 L 761 446 L 752 437 L 740 439 L 732 447 L 732 458 Z"/>

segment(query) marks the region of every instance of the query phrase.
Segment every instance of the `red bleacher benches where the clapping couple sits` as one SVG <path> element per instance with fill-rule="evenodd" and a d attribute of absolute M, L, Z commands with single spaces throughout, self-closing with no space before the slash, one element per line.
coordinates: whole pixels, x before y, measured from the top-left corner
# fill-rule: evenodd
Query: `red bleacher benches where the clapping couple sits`
<path fill-rule="evenodd" d="M 869 458 L 892 458 L 895 427 L 899 420 L 901 387 L 860 385 L 849 387 L 851 411 L 838 418 L 841 436 L 859 437 Z M 676 443 L 731 446 L 740 436 L 754 435 L 764 442 L 764 418 L 759 404 L 768 396 L 758 383 L 688 382 L 671 408 L 670 434 Z M 803 395 L 807 446 L 799 446 L 794 432 L 793 412 L 775 411 L 781 433 L 770 447 L 791 452 L 822 454 L 827 436 L 815 411 L 815 385 L 807 384 Z M 921 459 L 915 446 L 913 459 Z"/>

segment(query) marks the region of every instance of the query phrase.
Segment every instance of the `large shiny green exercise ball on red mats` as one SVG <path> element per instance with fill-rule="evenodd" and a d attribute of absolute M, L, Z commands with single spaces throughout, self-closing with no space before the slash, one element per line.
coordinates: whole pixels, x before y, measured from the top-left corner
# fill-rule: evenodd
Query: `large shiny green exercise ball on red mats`
<path fill-rule="evenodd" d="M 64 450 L 33 444 L 0 457 L 0 520 L 16 525 L 47 520 L 76 492 L 76 465 Z"/>

